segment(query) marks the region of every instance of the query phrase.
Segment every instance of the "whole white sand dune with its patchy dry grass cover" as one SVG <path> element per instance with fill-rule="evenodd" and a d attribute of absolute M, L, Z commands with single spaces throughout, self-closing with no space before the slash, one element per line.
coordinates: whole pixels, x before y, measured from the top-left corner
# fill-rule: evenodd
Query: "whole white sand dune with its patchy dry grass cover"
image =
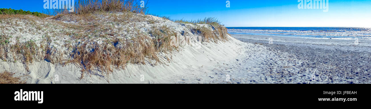
<path fill-rule="evenodd" d="M 220 30 L 224 27 L 174 23 L 134 13 L 61 15 L 45 19 L 22 16 L 4 20 L 1 26 L 3 35 L 12 37 L 2 46 L 0 72 L 14 72 L 15 77 L 22 76 L 29 84 L 211 83 L 210 79 L 221 78 L 212 82 L 216 83 L 225 81 L 226 74 L 214 75 L 217 70 L 214 68 L 235 60 L 245 49 L 243 42 Z M 157 35 L 169 36 L 171 42 Z M 142 48 L 153 43 L 157 48 Z M 13 50 L 19 46 L 20 52 Z M 112 55 L 125 47 L 133 49 L 130 52 L 133 57 L 127 62 Z M 98 50 L 102 53 L 98 54 Z M 144 52 L 152 53 L 149 50 L 155 54 L 145 55 Z M 115 57 L 107 63 L 107 59 Z M 125 65 L 116 67 L 118 61 L 124 61 Z"/>

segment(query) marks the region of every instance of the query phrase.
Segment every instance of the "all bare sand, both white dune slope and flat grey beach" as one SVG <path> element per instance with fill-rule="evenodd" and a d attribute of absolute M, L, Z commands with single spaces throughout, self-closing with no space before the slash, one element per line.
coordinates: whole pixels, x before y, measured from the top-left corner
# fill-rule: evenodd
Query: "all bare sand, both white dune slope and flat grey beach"
<path fill-rule="evenodd" d="M 126 16 L 127 13 L 95 14 L 98 22 L 105 24 L 105 17 L 116 18 Z M 132 15 L 139 18 L 133 22 L 139 28 L 137 31 L 148 33 L 152 26 L 167 25 L 174 30 L 171 44 L 178 46 L 171 52 L 158 52 L 156 56 L 161 63 L 152 64 L 146 58 L 145 63 L 128 63 L 124 69 L 112 68 L 112 72 L 105 74 L 101 70 L 92 69 L 85 72 L 82 77 L 82 68 L 78 64 L 59 64 L 48 62 L 40 58 L 25 64 L 13 59 L 11 52 L 6 52 L 6 57 L 0 62 L 0 72 L 9 71 L 14 77 L 20 77 L 28 84 L 359 84 L 371 83 L 370 78 L 370 40 L 335 40 L 335 39 L 309 39 L 293 37 L 274 37 L 264 35 L 225 34 L 227 40 L 204 41 L 198 27 L 207 30 L 217 30 L 207 24 L 175 23 L 164 18 L 151 15 Z M 27 17 L 29 18 L 29 17 Z M 27 19 L 26 18 L 26 19 Z M 64 19 L 63 19 L 64 18 Z M 142 18 L 145 20 L 143 21 Z M 54 19 L 37 19 L 36 23 L 48 25 L 76 24 L 70 21 L 71 17 L 64 16 Z M 73 18 L 72 18 L 73 19 Z M 59 21 L 61 20 L 61 21 Z M 146 21 L 147 20 L 147 21 Z M 9 23 L 27 22 L 27 20 L 9 20 Z M 76 20 L 78 21 L 78 20 Z M 153 22 L 152 22 L 153 21 Z M 120 22 L 119 22 L 120 23 Z M 10 44 L 16 41 L 27 42 L 34 39 L 36 45 L 43 44 L 43 33 L 23 31 L 25 29 L 37 30 L 36 27 L 27 27 L 26 23 L 18 23 L 18 27 L 7 23 L 3 34 L 15 35 L 10 37 Z M 77 23 L 78 24 L 78 23 Z M 73 29 L 63 27 L 65 31 Z M 131 24 L 115 25 L 115 28 L 130 28 Z M 21 29 L 19 29 L 21 28 Z M 40 27 L 43 28 L 43 27 Z M 50 29 L 50 28 L 44 28 Z M 42 30 L 42 29 L 41 29 Z M 130 29 L 128 29 L 130 30 Z M 52 31 L 52 30 L 48 30 Z M 60 32 L 60 31 L 59 31 Z M 115 33 L 119 32 L 119 33 Z M 226 33 L 226 30 L 220 31 Z M 58 32 L 57 32 L 58 33 Z M 115 36 L 106 38 L 127 39 L 132 33 L 114 30 Z M 218 32 L 215 32 L 218 33 Z M 49 33 L 47 33 L 49 34 Z M 72 49 L 62 46 L 70 44 L 68 34 L 62 36 L 52 35 L 49 47 L 53 48 L 55 58 L 69 59 Z M 58 36 L 58 37 L 56 37 Z M 135 36 L 135 35 L 134 35 Z M 62 38 L 60 38 L 62 37 Z M 89 38 L 85 42 L 103 43 L 105 38 Z M 17 40 L 18 39 L 18 40 Z M 30 40 L 32 41 L 32 40 Z M 30 42 L 29 41 L 29 42 Z M 75 40 L 72 44 L 79 45 Z M 118 43 L 119 47 L 121 43 Z M 116 46 L 116 45 L 114 45 Z M 5 47 L 7 48 L 7 47 Z M 9 48 L 9 47 L 8 47 Z M 40 50 L 39 50 L 40 51 Z M 59 53 L 64 52 L 64 54 Z M 90 51 L 92 52 L 92 51 Z M 14 61 L 13 61 L 14 60 Z M 63 59 L 62 59 L 63 60 Z M 27 67 L 29 70 L 27 70 Z M 112 67 L 112 66 L 111 66 Z"/>

